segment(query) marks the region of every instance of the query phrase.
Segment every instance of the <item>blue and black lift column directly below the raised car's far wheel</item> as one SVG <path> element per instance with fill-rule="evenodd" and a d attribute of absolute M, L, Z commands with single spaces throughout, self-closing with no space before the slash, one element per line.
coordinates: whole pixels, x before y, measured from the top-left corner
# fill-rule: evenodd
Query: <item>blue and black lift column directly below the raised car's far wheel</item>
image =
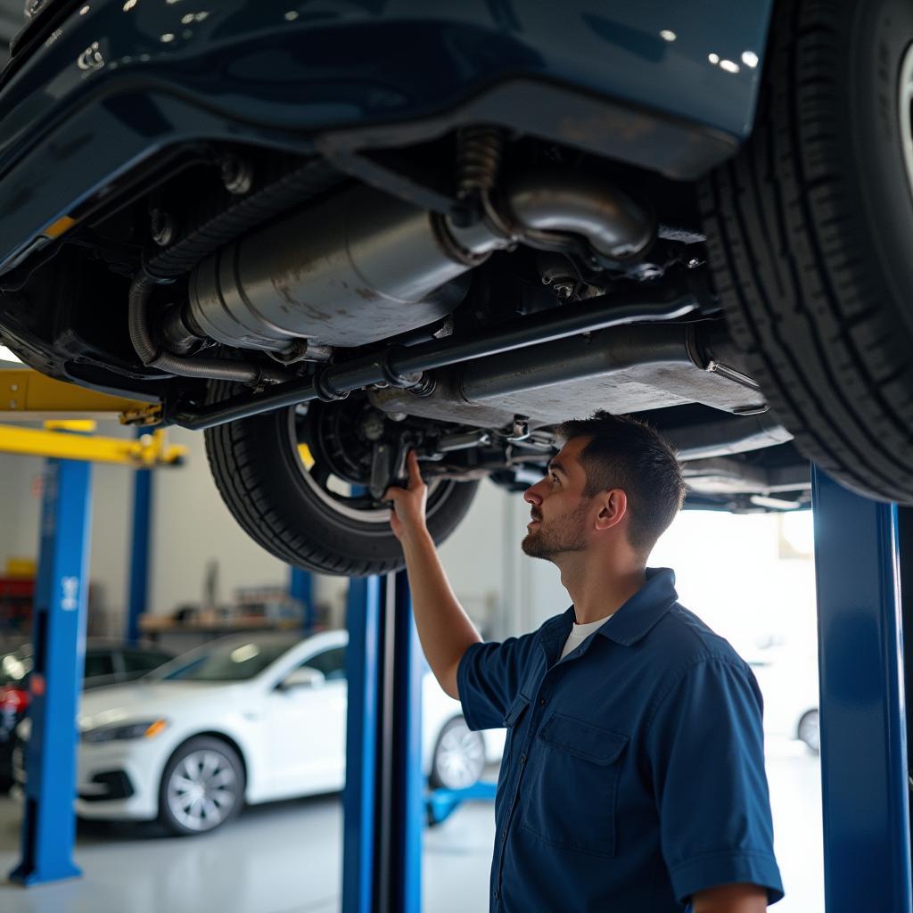
<path fill-rule="evenodd" d="M 422 656 L 404 572 L 349 583 L 342 913 L 419 913 Z"/>

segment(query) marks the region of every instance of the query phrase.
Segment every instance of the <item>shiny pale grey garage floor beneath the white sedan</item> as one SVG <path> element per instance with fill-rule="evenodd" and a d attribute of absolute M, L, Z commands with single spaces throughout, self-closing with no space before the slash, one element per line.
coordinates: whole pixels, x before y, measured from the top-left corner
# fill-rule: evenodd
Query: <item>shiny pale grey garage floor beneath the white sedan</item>
<path fill-rule="evenodd" d="M 824 913 L 820 772 L 792 742 L 771 744 L 768 776 L 787 897 L 776 913 Z M 425 913 L 487 908 L 490 803 L 467 803 L 425 831 Z M 20 807 L 0 799 L 0 876 L 18 861 Z M 3 913 L 336 913 L 342 812 L 326 796 L 247 809 L 224 831 L 175 839 L 152 825 L 80 825 L 84 876 L 0 884 Z"/>

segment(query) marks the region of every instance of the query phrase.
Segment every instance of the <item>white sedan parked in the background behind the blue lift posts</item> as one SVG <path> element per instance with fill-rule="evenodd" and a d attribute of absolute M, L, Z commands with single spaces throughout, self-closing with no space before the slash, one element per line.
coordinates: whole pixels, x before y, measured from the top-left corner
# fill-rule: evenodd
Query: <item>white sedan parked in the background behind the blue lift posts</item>
<path fill-rule="evenodd" d="M 341 790 L 347 642 L 345 631 L 226 637 L 138 682 L 84 694 L 77 813 L 200 834 L 243 803 Z M 471 785 L 498 761 L 502 730 L 469 731 L 433 676 L 422 690 L 429 784 Z"/>

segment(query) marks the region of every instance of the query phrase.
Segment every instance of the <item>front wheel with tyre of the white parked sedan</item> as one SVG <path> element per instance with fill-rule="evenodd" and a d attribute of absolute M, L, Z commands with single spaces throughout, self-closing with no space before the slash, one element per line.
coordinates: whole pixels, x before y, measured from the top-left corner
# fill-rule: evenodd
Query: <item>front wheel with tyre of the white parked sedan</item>
<path fill-rule="evenodd" d="M 165 765 L 159 821 L 181 836 L 211 833 L 240 812 L 244 788 L 244 767 L 236 750 L 209 736 L 191 739 Z"/>

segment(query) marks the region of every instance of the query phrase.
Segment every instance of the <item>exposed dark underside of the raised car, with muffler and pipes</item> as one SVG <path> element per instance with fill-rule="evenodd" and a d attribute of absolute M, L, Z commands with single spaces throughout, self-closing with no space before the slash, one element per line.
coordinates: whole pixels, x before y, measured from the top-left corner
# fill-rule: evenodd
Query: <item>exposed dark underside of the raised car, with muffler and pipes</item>
<path fill-rule="evenodd" d="M 664 213 L 655 177 L 495 129 L 407 150 L 395 173 L 411 163 L 416 185 L 445 163 L 427 195 L 446 211 L 319 159 L 195 151 L 0 278 L 5 338 L 47 373 L 161 397 L 151 415 L 176 425 L 295 405 L 324 486 L 364 490 L 349 509 L 381 508 L 410 447 L 428 477 L 522 488 L 552 426 L 601 408 L 669 438 L 692 504 L 807 502 L 680 187 Z"/>

